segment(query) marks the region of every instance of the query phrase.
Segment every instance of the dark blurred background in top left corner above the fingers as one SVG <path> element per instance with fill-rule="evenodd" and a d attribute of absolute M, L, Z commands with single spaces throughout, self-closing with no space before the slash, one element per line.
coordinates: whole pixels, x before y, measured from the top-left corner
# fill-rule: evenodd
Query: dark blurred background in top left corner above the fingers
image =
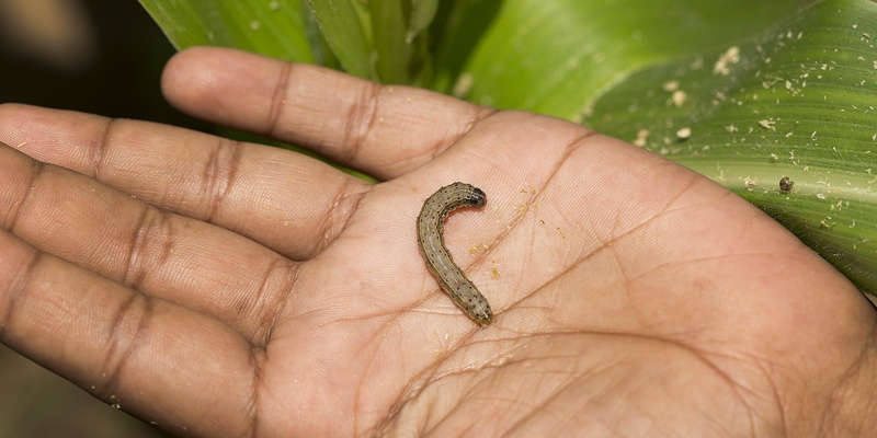
<path fill-rule="evenodd" d="M 209 129 L 161 96 L 174 53 L 133 0 L 0 1 L 0 102 Z"/>

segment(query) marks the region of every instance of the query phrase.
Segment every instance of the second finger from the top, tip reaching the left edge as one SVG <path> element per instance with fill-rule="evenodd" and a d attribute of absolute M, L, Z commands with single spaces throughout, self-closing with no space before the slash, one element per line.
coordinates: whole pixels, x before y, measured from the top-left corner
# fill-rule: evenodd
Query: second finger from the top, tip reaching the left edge
<path fill-rule="evenodd" d="M 299 153 L 157 124 L 24 105 L 0 106 L 0 141 L 37 160 L 92 175 L 294 260 L 330 243 L 356 194 L 369 187 Z"/>

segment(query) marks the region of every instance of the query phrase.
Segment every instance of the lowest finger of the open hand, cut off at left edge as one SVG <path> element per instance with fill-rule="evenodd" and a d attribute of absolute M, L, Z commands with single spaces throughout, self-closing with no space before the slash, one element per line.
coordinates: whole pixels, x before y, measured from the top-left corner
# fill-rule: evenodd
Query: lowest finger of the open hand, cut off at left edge
<path fill-rule="evenodd" d="M 230 327 L 2 231 L 0 278 L 3 344 L 168 430 L 248 435 L 255 359 Z"/>

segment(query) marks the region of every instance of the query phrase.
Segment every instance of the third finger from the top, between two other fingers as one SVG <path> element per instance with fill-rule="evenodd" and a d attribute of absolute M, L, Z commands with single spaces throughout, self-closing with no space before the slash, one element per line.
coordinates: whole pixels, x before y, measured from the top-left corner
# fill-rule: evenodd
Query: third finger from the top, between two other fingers
<path fill-rule="evenodd" d="M 0 148 L 0 228 L 133 289 L 267 336 L 296 265 L 228 230 L 161 211 Z"/>

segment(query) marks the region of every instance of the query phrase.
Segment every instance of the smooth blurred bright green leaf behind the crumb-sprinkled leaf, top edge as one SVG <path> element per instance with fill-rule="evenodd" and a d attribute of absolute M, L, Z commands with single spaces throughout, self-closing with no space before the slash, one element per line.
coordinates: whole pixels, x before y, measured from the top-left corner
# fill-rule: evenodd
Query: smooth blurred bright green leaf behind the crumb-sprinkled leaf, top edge
<path fill-rule="evenodd" d="M 579 120 L 634 71 L 751 35 L 807 2 L 506 0 L 462 73 L 477 103 Z"/>

